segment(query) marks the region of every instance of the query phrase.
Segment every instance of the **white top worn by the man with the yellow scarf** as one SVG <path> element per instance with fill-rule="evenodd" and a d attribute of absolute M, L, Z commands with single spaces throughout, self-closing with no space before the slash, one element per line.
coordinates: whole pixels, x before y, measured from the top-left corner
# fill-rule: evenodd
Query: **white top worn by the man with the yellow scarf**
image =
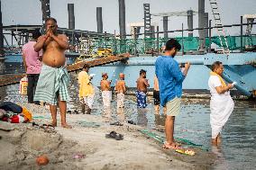
<path fill-rule="evenodd" d="M 224 97 L 227 97 L 230 95 L 229 91 L 225 92 L 224 94 L 218 94 L 215 87 L 221 86 L 221 80 L 218 76 L 210 76 L 208 80 L 208 86 L 210 89 L 210 93 L 212 95 L 212 99 L 224 99 Z"/>

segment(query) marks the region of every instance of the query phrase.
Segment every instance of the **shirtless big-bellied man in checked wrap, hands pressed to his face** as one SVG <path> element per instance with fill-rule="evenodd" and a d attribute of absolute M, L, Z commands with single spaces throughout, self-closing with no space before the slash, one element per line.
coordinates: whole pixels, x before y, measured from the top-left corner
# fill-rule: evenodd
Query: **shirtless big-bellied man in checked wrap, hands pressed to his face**
<path fill-rule="evenodd" d="M 65 34 L 57 32 L 57 21 L 48 18 L 45 22 L 46 34 L 34 45 L 34 50 L 43 49 L 41 74 L 34 95 L 34 101 L 50 103 L 52 126 L 57 126 L 57 104 L 61 116 L 61 126 L 71 128 L 66 121 L 67 101 L 69 100 L 69 74 L 65 67 L 65 50 L 69 42 Z"/>

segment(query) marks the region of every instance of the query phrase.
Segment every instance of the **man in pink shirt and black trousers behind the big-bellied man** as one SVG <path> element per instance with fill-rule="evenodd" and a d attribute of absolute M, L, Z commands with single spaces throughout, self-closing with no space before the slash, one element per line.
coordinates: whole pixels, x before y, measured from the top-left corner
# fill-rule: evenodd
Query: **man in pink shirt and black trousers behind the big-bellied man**
<path fill-rule="evenodd" d="M 36 41 L 40 36 L 40 31 L 32 31 L 32 40 L 23 45 L 23 66 L 28 78 L 28 103 L 34 103 L 33 95 L 41 72 L 42 50 L 37 52 L 33 49 L 33 46 L 36 44 Z"/>

